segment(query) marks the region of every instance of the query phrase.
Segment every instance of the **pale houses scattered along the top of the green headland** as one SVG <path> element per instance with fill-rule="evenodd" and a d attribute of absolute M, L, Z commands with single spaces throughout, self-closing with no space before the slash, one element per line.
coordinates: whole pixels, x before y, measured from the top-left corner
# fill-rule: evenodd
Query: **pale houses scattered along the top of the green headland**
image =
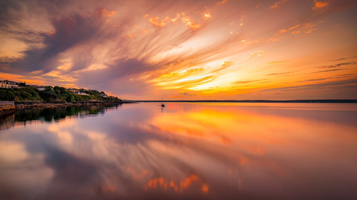
<path fill-rule="evenodd" d="M 25 88 L 25 87 L 34 87 L 36 88 L 38 91 L 45 91 L 46 87 L 50 88 L 52 86 L 39 86 L 39 85 L 35 85 L 35 84 L 30 84 L 30 85 L 26 85 L 26 83 L 22 83 L 22 82 L 15 82 L 15 81 L 9 81 L 9 80 L 3 80 L 0 82 L 0 87 L 1 88 Z M 93 92 L 99 92 L 96 89 L 85 89 L 85 88 L 66 88 L 67 90 L 71 91 L 73 94 L 79 94 L 79 95 L 90 95 L 89 91 L 93 91 Z M 101 97 L 108 97 L 107 94 L 105 94 L 104 92 L 100 92 L 99 96 Z M 113 97 L 113 96 L 110 96 Z"/>

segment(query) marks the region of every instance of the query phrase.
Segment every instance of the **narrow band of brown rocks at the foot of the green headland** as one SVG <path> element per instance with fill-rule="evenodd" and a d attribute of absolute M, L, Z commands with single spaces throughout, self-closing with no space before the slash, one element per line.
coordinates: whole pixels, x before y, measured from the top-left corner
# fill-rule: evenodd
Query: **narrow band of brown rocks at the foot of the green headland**
<path fill-rule="evenodd" d="M 64 106 L 91 106 L 91 105 L 111 105 L 122 104 L 126 102 L 81 102 L 81 103 L 43 103 L 43 102 L 15 102 L 15 109 L 24 108 L 51 108 L 51 107 L 64 107 Z"/>

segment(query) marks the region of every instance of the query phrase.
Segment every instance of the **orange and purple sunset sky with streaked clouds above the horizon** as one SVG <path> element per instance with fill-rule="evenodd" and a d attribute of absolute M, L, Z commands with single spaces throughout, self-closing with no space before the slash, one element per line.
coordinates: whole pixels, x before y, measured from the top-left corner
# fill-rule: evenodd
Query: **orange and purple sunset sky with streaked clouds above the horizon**
<path fill-rule="evenodd" d="M 356 99 L 357 1 L 1 1 L 0 80 L 122 99 Z"/>

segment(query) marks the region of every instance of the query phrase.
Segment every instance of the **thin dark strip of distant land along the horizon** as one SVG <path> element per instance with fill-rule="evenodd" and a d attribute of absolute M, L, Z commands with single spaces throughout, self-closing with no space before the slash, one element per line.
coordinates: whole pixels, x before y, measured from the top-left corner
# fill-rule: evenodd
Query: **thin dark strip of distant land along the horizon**
<path fill-rule="evenodd" d="M 123 102 L 161 102 L 151 100 L 123 100 Z M 300 99 L 300 100 L 168 100 L 166 103 L 357 103 L 357 99 Z"/>

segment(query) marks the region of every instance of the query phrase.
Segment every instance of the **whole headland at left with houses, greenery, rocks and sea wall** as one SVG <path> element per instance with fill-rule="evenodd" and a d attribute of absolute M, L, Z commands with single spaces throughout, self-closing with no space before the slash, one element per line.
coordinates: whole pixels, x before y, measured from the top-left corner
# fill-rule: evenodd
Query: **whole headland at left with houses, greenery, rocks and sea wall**
<path fill-rule="evenodd" d="M 22 108 L 74 105 L 121 104 L 117 97 L 86 88 L 39 86 L 9 80 L 0 81 L 0 116 Z"/>

